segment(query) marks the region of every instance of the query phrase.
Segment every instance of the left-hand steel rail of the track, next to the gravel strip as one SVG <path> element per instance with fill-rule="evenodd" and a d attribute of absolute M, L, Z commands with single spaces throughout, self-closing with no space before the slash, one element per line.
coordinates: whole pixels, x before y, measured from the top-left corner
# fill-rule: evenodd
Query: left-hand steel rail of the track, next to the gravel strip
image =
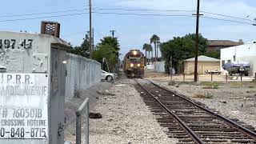
<path fill-rule="evenodd" d="M 143 90 L 146 90 L 146 88 L 143 87 L 140 83 L 138 83 L 137 80 L 134 80 L 134 81 L 137 82 L 138 86 L 141 86 Z M 160 102 L 160 101 L 158 100 L 158 98 L 156 98 L 156 97 L 154 96 L 154 94 L 151 94 L 149 90 L 146 90 L 146 92 L 147 92 L 148 94 L 150 94 L 150 96 L 151 96 L 152 98 L 154 98 L 154 100 L 155 100 L 156 102 L 158 102 L 158 104 L 159 104 L 160 106 L 162 106 L 162 108 L 163 108 L 164 110 L 166 110 L 170 115 L 172 115 L 172 116 L 174 117 L 175 121 L 178 122 L 178 124 L 179 124 L 180 126 L 182 126 L 183 130 L 186 130 L 186 132 L 187 132 L 188 134 L 190 134 L 190 137 L 194 140 L 194 142 L 197 142 L 198 144 L 205 144 L 205 142 L 203 142 L 203 141 L 201 140 L 201 138 L 199 138 L 198 135 L 195 134 L 194 131 L 191 130 L 190 127 L 187 126 L 186 123 L 182 121 L 181 118 L 178 118 L 178 116 L 177 116 L 176 114 L 174 114 L 174 112 L 168 110 L 168 108 L 167 108 L 166 106 L 164 106 L 164 105 L 162 104 L 162 102 Z"/>

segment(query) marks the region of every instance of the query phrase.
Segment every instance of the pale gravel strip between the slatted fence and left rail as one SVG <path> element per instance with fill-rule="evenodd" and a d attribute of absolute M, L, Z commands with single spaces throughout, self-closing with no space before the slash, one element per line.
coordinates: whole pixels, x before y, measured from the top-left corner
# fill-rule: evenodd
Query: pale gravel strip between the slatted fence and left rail
<path fill-rule="evenodd" d="M 90 143 L 177 142 L 164 134 L 166 128 L 159 126 L 133 85 L 132 79 L 121 79 L 106 94 L 100 96 L 93 110 L 90 110 L 102 114 L 100 119 L 90 119 Z M 69 126 L 66 134 L 74 142 L 74 126 Z"/>

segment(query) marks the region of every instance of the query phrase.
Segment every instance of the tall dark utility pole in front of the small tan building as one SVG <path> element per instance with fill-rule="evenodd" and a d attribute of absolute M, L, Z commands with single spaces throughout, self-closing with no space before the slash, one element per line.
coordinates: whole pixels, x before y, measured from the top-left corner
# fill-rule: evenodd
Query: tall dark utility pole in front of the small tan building
<path fill-rule="evenodd" d="M 194 82 L 198 82 L 198 41 L 199 41 L 199 14 L 200 12 L 200 0 L 198 0 L 197 6 L 197 22 L 196 22 L 196 35 L 195 35 L 195 56 L 194 56 Z M 193 14 L 195 15 L 195 14 Z"/>

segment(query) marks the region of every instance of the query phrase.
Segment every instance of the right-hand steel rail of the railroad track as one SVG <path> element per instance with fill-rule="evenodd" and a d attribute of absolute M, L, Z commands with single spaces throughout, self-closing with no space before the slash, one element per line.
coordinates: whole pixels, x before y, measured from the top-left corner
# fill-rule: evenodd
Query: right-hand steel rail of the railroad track
<path fill-rule="evenodd" d="M 144 78 L 142 78 L 142 79 L 144 79 Z M 175 94 L 175 95 L 178 96 L 179 98 L 182 98 L 182 99 L 186 100 L 186 102 L 192 103 L 194 106 L 197 106 L 197 107 L 200 108 L 201 110 L 205 110 L 207 113 L 212 114 L 212 115 L 214 115 L 216 118 L 219 118 L 219 119 L 225 121 L 225 122 L 226 122 L 227 124 L 229 124 L 230 126 L 236 128 L 236 129 L 238 129 L 238 130 L 241 131 L 243 134 L 246 134 L 246 135 L 250 136 L 250 138 L 253 138 L 253 139 L 256 141 L 256 133 L 254 133 L 252 130 L 249 130 L 249 129 L 247 129 L 246 127 L 240 126 L 240 125 L 238 125 L 238 123 L 233 122 L 233 121 L 231 121 L 230 119 L 225 118 L 225 117 L 223 117 L 223 116 L 220 115 L 220 114 L 216 114 L 216 113 L 214 113 L 213 111 L 207 109 L 206 107 L 203 107 L 203 106 L 198 105 L 197 103 L 193 102 L 193 101 L 190 100 L 189 98 L 186 98 L 186 96 L 184 96 L 184 95 L 182 95 L 182 94 L 178 94 L 177 92 L 171 91 L 171 90 L 167 89 L 166 87 L 159 86 L 158 84 L 156 84 L 156 83 L 154 83 L 154 82 L 152 82 L 152 81 L 150 81 L 150 80 L 148 80 L 148 79 L 144 79 L 144 80 L 146 80 L 146 81 L 152 83 L 154 86 L 158 86 L 158 87 L 162 88 L 163 90 L 166 90 L 166 91 L 169 91 L 169 92 L 172 93 L 172 94 Z"/>

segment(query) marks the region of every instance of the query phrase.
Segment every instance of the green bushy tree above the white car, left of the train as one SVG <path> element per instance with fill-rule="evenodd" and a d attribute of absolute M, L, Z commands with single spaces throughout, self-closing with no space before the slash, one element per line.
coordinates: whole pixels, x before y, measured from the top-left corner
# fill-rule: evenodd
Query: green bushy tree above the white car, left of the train
<path fill-rule="evenodd" d="M 106 58 L 110 71 L 114 72 L 114 69 L 119 62 L 119 50 L 120 45 L 117 38 L 104 37 L 96 46 L 92 58 L 101 63 L 102 58 Z M 104 63 L 103 66 L 103 69 L 106 70 L 106 63 Z"/>

